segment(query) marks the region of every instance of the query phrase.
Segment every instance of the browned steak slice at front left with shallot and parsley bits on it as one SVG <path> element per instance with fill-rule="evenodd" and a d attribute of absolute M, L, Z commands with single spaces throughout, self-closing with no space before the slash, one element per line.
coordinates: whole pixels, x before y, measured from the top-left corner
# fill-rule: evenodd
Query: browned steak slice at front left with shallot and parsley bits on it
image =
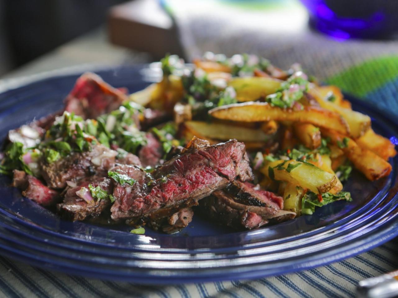
<path fill-rule="evenodd" d="M 93 199 L 87 202 L 76 194 L 82 187 L 88 187 L 89 184 L 94 187 L 100 186 L 107 193 L 112 193 L 113 191 L 111 179 L 100 176 L 88 177 L 80 180 L 76 186 L 66 187 L 64 190 L 64 201 L 57 205 L 57 210 L 62 218 L 72 221 L 96 218 L 111 205 L 109 199 Z"/>

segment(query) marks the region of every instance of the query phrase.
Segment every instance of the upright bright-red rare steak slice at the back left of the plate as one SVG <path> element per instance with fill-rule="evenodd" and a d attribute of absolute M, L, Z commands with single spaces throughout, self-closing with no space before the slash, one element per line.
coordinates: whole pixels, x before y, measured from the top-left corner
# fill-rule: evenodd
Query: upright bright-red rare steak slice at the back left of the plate
<path fill-rule="evenodd" d="M 117 109 L 128 97 L 120 90 L 105 83 L 93 73 L 85 73 L 77 79 L 72 91 L 65 99 L 65 111 L 74 112 L 84 119 Z"/>

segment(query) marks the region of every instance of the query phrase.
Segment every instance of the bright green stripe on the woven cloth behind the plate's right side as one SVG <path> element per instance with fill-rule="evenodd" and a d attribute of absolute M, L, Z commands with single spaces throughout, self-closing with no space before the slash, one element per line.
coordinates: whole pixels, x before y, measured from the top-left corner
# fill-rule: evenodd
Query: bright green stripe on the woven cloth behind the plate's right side
<path fill-rule="evenodd" d="M 364 97 L 398 77 L 398 56 L 384 56 L 367 60 L 332 76 L 326 83 L 343 91 Z"/>

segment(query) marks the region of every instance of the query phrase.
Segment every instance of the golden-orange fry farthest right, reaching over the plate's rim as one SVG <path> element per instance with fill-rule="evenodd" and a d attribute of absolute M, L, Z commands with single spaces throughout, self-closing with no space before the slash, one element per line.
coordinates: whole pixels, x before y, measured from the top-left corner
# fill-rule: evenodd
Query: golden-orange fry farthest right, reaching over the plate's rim
<path fill-rule="evenodd" d="M 355 142 L 359 147 L 371 150 L 384 160 L 388 160 L 388 158 L 394 157 L 397 154 L 395 145 L 392 144 L 388 138 L 384 138 L 384 136 L 375 133 L 373 129 L 367 130 L 367 132 L 356 139 Z"/>

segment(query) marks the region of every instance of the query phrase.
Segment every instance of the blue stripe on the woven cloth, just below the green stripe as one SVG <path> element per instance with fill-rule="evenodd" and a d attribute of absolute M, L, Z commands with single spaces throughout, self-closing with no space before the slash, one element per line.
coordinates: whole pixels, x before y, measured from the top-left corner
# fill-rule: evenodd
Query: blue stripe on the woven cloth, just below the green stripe
<path fill-rule="evenodd" d="M 382 87 L 365 95 L 366 99 L 376 106 L 398 112 L 398 79 L 392 80 Z"/>

